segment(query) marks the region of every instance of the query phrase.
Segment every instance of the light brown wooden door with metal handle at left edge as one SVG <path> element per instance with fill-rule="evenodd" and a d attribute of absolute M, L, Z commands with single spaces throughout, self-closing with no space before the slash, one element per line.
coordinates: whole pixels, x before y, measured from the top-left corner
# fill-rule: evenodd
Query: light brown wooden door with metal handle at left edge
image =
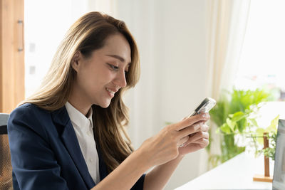
<path fill-rule="evenodd" d="M 0 0 L 0 112 L 24 100 L 24 0 Z"/>

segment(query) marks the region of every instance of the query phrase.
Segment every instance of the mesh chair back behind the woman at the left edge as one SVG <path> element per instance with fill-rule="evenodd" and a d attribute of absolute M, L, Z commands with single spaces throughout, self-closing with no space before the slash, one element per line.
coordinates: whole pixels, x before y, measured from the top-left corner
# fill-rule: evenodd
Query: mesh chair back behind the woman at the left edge
<path fill-rule="evenodd" d="M 13 189 L 12 165 L 7 122 L 9 114 L 0 113 L 0 190 Z"/>

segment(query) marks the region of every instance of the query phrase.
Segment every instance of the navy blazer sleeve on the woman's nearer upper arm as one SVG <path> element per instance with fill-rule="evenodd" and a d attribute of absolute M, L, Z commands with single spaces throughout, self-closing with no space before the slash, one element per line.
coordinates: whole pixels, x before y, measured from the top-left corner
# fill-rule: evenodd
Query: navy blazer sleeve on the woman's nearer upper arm
<path fill-rule="evenodd" d="M 48 135 L 33 107 L 18 107 L 8 122 L 11 163 L 19 189 L 68 189 Z M 14 187 L 16 188 L 16 187 Z M 17 189 L 18 189 L 17 188 Z"/>

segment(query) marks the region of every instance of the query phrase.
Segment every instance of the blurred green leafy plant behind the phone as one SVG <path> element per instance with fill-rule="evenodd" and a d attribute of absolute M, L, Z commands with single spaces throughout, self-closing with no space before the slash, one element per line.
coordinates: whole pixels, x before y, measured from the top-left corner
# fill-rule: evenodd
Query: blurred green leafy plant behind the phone
<path fill-rule="evenodd" d="M 225 162 L 244 152 L 245 146 L 237 144 L 237 136 L 255 135 L 251 133 L 258 128 L 254 114 L 259 110 L 260 102 L 269 100 L 272 100 L 272 97 L 265 90 L 233 89 L 232 93 L 227 92 L 217 101 L 217 105 L 209 114 L 218 127 L 217 132 L 222 136 L 222 154 L 209 155 L 213 167 L 217 166 L 218 162 Z"/>

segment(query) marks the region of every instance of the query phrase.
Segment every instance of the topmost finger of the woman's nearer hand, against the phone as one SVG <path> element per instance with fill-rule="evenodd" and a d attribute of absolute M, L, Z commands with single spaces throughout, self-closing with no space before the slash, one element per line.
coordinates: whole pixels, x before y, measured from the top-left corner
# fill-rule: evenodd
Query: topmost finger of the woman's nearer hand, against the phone
<path fill-rule="evenodd" d="M 201 113 L 198 115 L 194 115 L 189 118 L 186 118 L 185 120 L 177 122 L 175 124 L 175 130 L 179 131 L 184 129 L 185 127 L 195 124 L 195 122 L 207 121 L 207 120 L 209 120 L 209 113 Z"/>

